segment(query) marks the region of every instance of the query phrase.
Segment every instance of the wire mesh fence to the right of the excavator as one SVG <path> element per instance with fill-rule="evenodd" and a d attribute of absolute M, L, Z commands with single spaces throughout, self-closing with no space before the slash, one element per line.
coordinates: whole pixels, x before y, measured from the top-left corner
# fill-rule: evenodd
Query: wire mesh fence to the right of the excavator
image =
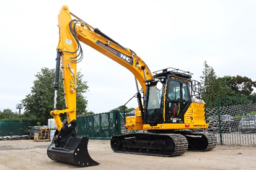
<path fill-rule="evenodd" d="M 256 144 L 255 96 L 232 96 L 206 101 L 208 132 L 220 144 Z"/>

